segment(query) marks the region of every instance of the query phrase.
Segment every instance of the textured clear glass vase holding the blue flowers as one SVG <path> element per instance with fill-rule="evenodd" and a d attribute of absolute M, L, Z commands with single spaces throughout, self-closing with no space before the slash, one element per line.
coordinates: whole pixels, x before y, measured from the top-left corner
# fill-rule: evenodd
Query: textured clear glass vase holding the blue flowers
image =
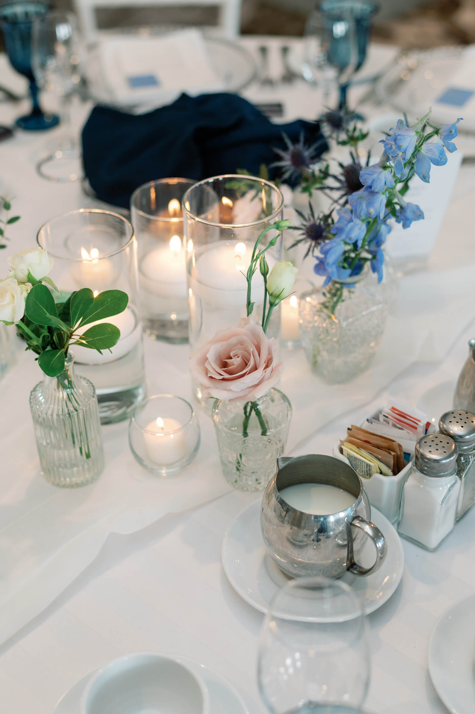
<path fill-rule="evenodd" d="M 387 290 L 364 271 L 300 300 L 300 336 L 312 371 L 329 384 L 364 372 L 386 326 Z"/>

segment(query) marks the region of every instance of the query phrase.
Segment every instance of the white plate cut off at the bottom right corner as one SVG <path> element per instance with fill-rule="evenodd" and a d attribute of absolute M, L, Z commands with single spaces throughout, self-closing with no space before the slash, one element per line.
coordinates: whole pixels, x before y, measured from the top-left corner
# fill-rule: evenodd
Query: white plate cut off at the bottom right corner
<path fill-rule="evenodd" d="M 451 605 L 429 640 L 429 672 L 452 714 L 475 711 L 475 595 Z"/>

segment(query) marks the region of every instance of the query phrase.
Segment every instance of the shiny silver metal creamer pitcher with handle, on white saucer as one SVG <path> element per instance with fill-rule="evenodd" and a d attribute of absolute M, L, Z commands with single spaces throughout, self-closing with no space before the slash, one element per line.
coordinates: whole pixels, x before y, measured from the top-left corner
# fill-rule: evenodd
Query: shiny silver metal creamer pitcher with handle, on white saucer
<path fill-rule="evenodd" d="M 384 535 L 371 518 L 371 506 L 361 480 L 351 466 L 333 456 L 309 454 L 277 459 L 278 471 L 264 491 L 261 531 L 272 560 L 291 578 L 326 575 L 339 578 L 348 570 L 354 575 L 374 573 L 386 557 Z M 314 516 L 289 506 L 279 491 L 297 483 L 325 483 L 354 496 L 346 511 Z M 366 537 L 376 548 L 371 568 L 356 562 Z"/>

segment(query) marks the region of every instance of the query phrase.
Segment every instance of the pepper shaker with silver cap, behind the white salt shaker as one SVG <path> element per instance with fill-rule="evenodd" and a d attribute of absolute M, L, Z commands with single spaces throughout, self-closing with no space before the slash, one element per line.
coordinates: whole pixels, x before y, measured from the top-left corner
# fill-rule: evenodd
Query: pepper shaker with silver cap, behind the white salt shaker
<path fill-rule="evenodd" d="M 450 436 L 459 449 L 457 476 L 460 479 L 458 521 L 475 503 L 475 414 L 446 411 L 439 419 L 439 431 Z"/>

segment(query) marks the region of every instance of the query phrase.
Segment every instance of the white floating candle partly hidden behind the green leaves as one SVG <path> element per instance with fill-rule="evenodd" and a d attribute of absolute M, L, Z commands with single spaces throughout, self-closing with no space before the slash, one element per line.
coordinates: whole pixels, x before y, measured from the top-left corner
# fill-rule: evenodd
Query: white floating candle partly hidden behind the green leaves
<path fill-rule="evenodd" d="M 141 338 L 141 322 L 137 320 L 136 313 L 131 307 L 127 307 L 124 312 L 119 313 L 119 315 L 113 315 L 112 317 L 104 318 L 104 320 L 98 320 L 89 323 L 89 325 L 84 325 L 84 328 L 81 328 L 81 333 L 86 332 L 86 330 L 89 330 L 89 328 L 94 325 L 105 322 L 119 328 L 121 331 L 119 342 L 114 345 L 114 347 L 111 347 L 111 352 L 104 350 L 102 354 L 95 349 L 71 345 L 76 363 L 106 364 L 108 362 L 114 362 L 128 354 L 136 343 L 139 342 Z"/>

